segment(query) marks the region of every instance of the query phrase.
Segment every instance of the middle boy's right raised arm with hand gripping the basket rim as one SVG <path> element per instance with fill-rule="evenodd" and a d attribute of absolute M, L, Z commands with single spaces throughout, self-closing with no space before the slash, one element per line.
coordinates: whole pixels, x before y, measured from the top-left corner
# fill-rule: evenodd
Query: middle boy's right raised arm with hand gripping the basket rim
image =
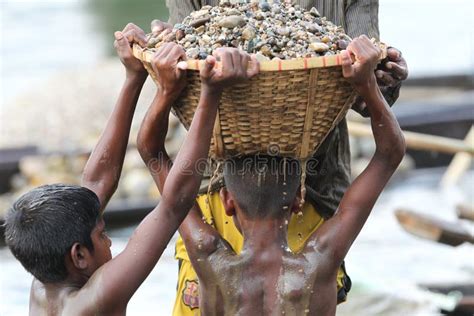
<path fill-rule="evenodd" d="M 356 57 L 353 65 L 349 53 Z M 346 256 L 405 154 L 403 134 L 376 84 L 373 70 L 379 53 L 366 36 L 361 36 L 349 45 L 343 55 L 343 74 L 367 103 L 376 150 L 367 168 L 344 194 L 336 215 L 313 236 L 317 241 L 315 245 L 330 254 L 335 267 L 339 267 Z M 311 243 L 308 245 L 312 246 Z"/>

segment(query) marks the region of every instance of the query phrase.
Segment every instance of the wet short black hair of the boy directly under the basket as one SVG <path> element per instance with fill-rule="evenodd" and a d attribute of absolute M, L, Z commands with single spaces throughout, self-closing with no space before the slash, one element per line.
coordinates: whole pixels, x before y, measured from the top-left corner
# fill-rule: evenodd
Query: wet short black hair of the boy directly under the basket
<path fill-rule="evenodd" d="M 227 159 L 224 180 L 237 204 L 250 218 L 281 218 L 300 185 L 298 160 L 268 155 Z"/>

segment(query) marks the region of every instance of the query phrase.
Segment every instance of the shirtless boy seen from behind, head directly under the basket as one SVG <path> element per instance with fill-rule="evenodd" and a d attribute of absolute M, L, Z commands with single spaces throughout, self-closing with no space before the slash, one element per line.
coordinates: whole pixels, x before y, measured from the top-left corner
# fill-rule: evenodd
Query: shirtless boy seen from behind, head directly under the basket
<path fill-rule="evenodd" d="M 361 36 L 342 54 L 343 75 L 370 113 L 376 142 L 371 162 L 346 191 L 336 215 L 321 221 L 302 250 L 293 253 L 287 224 L 291 211 L 298 209 L 299 165 L 279 157 L 227 160 L 227 188 L 220 195 L 226 213 L 243 234 L 240 254 L 203 222 L 197 205 L 180 226 L 199 277 L 203 315 L 335 314 L 338 269 L 405 152 L 400 127 L 376 84 L 380 50 Z M 166 129 L 156 126 L 166 126 L 170 104 L 155 102 L 139 133 L 145 162 L 159 157 L 154 160 L 158 166 L 148 166 L 160 191 L 166 186 L 170 161 L 164 148 Z"/>

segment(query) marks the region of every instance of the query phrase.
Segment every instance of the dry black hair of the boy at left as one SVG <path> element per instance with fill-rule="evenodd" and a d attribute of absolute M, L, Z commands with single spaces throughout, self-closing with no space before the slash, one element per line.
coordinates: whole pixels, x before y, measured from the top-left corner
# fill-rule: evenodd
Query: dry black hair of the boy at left
<path fill-rule="evenodd" d="M 91 190 L 44 185 L 15 201 L 5 219 L 5 242 L 23 267 L 43 283 L 66 279 L 65 256 L 76 242 L 93 250 L 91 232 L 100 203 Z"/>

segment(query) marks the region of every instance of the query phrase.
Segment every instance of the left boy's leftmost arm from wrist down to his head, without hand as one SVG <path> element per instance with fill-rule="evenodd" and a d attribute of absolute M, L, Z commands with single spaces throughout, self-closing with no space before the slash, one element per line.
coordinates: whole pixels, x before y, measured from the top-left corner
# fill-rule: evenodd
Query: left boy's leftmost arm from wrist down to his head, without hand
<path fill-rule="evenodd" d="M 117 188 L 133 114 L 144 80 L 127 78 L 99 142 L 84 168 L 82 183 L 99 197 L 103 209 Z"/>

